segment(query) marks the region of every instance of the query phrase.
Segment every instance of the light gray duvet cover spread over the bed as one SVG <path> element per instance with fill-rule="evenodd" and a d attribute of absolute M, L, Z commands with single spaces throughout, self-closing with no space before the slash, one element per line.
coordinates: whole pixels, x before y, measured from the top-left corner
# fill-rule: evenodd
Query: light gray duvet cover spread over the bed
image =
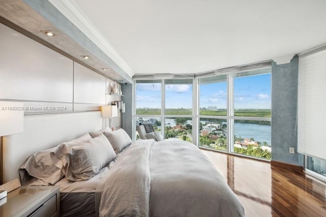
<path fill-rule="evenodd" d="M 100 216 L 244 216 L 201 150 L 185 141 L 138 140 L 107 177 Z"/>

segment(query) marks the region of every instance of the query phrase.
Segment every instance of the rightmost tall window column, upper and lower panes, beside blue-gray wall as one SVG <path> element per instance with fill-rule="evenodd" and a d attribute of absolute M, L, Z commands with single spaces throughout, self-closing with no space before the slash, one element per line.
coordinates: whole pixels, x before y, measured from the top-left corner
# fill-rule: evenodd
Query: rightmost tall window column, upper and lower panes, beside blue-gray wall
<path fill-rule="evenodd" d="M 270 68 L 232 74 L 234 153 L 271 158 L 270 75 Z"/>

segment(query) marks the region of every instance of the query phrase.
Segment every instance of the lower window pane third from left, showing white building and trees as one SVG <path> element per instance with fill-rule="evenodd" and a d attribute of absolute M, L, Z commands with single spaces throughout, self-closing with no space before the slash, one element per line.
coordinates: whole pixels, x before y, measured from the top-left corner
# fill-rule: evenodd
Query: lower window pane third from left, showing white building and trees
<path fill-rule="evenodd" d="M 226 119 L 199 119 L 199 146 L 226 151 Z"/>

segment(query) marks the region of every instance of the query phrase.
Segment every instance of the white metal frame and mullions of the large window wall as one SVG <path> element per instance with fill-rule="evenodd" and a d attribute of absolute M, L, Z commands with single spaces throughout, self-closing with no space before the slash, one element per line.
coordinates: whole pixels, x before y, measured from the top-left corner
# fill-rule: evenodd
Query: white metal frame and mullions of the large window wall
<path fill-rule="evenodd" d="M 165 119 L 166 118 L 175 118 L 175 117 L 189 117 L 192 118 L 193 122 L 193 130 L 192 130 L 192 140 L 195 145 L 202 149 L 208 149 L 208 150 L 213 150 L 213 151 L 220 151 L 223 153 L 228 153 L 228 154 L 233 154 L 233 155 L 238 155 L 242 157 L 247 157 L 247 158 L 253 158 L 253 159 L 258 159 L 262 161 L 270 161 L 269 159 L 264 159 L 264 158 L 259 158 L 255 156 L 249 156 L 249 155 L 243 155 L 243 154 L 238 154 L 234 152 L 234 120 L 253 120 L 253 121 L 269 121 L 271 123 L 271 117 L 266 118 L 266 117 L 250 117 L 250 116 L 235 116 L 234 115 L 234 75 L 239 73 L 239 72 L 247 72 L 247 71 L 252 71 L 252 70 L 257 70 L 257 69 L 264 69 L 264 68 L 269 68 L 270 69 L 270 74 L 271 74 L 271 65 L 270 62 L 265 62 L 261 64 L 254 64 L 254 65 L 249 65 L 249 66 L 243 66 L 243 67 L 233 67 L 232 69 L 225 69 L 225 70 L 218 70 L 218 71 L 213 71 L 213 72 L 207 72 L 207 73 L 202 73 L 199 74 L 198 76 L 193 78 L 189 77 L 177 77 L 174 79 L 192 79 L 193 83 L 193 114 L 192 115 L 166 115 L 165 110 L 166 110 L 166 93 L 165 93 L 165 80 L 171 80 L 172 78 L 159 78 L 159 79 L 154 79 L 154 80 L 161 80 L 161 114 L 160 115 L 136 115 L 136 103 L 133 102 L 133 115 L 132 115 L 132 138 L 133 141 L 135 140 L 135 119 L 137 117 L 158 117 L 161 119 L 161 126 L 165 126 Z M 264 73 L 257 73 L 259 74 L 264 74 Z M 266 73 L 265 73 L 266 74 Z M 227 75 L 227 115 L 226 116 L 208 116 L 208 115 L 200 115 L 200 78 L 204 77 L 210 77 L 210 76 L 216 76 L 216 75 Z M 153 80 L 152 76 L 146 77 L 135 77 L 133 78 L 133 99 L 136 99 L 136 84 L 138 80 Z M 271 92 L 271 94 L 273 94 Z M 270 108 L 271 109 L 271 108 Z M 199 132 L 199 121 L 200 118 L 213 118 L 213 119 L 226 119 L 227 120 L 227 151 L 222 151 L 222 150 L 216 150 L 212 148 L 206 148 L 199 146 L 199 137 L 200 137 L 200 132 Z M 161 132 L 163 137 L 165 138 L 165 127 L 161 127 Z M 269 144 L 273 146 L 273 144 Z"/>

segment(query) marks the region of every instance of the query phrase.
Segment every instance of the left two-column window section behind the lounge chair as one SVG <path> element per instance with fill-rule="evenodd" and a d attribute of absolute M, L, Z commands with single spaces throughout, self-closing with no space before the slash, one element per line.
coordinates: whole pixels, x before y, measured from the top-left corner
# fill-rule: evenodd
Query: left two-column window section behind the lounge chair
<path fill-rule="evenodd" d="M 137 80 L 135 99 L 136 125 L 151 122 L 165 139 L 193 141 L 193 79 Z"/>

